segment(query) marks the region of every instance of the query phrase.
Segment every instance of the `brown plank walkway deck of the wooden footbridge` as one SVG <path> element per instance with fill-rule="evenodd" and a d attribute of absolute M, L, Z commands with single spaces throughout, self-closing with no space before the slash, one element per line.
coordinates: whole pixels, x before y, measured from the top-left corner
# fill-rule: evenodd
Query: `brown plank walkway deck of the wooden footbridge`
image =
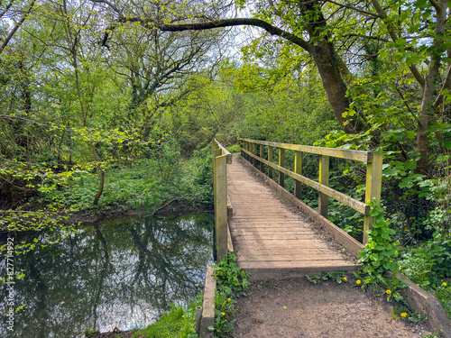
<path fill-rule="evenodd" d="M 331 249 L 311 222 L 282 203 L 240 160 L 227 165 L 227 189 L 234 208 L 229 224 L 237 264 L 251 272 L 252 279 L 358 268 Z"/>

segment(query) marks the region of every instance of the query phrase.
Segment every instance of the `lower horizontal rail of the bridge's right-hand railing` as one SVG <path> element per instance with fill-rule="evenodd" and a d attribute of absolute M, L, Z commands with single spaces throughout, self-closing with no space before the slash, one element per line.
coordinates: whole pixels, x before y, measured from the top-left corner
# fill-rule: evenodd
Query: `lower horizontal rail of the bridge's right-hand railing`
<path fill-rule="evenodd" d="M 252 156 L 254 156 L 254 155 L 252 155 Z M 290 176 L 290 178 L 297 179 L 300 182 L 308 185 L 308 187 L 313 187 L 314 189 L 317 189 L 318 191 L 326 194 L 327 196 L 335 198 L 338 202 L 343 203 L 345 206 L 352 207 L 355 211 L 358 211 L 361 214 L 368 215 L 368 213 L 370 211 L 369 207 L 367 205 L 365 205 L 363 202 L 357 201 L 356 199 L 354 199 L 350 196 L 347 196 L 339 191 L 336 191 L 335 189 L 333 189 L 331 187 L 324 186 L 324 185 L 314 181 L 313 179 L 306 178 L 306 177 L 296 174 L 295 172 L 292 172 L 288 169 L 281 168 L 277 164 L 269 163 L 267 160 L 262 159 L 262 161 L 265 164 L 271 166 L 272 168 L 282 171 L 287 176 Z"/>

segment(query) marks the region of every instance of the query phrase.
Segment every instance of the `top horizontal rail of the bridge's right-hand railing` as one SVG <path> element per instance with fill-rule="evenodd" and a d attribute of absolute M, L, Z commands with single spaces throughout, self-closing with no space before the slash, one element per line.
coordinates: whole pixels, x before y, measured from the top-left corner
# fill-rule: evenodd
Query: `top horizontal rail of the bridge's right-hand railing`
<path fill-rule="evenodd" d="M 258 141 L 239 137 L 238 140 L 245 142 L 253 142 L 255 144 L 263 144 L 279 149 L 286 149 L 290 151 L 303 151 L 310 154 L 326 155 L 330 157 L 336 157 L 345 160 L 358 160 L 360 162 L 370 162 L 373 160 L 372 151 L 351 151 L 346 149 L 325 148 L 325 147 L 312 147 L 308 145 L 289 144 L 279 142 Z"/>

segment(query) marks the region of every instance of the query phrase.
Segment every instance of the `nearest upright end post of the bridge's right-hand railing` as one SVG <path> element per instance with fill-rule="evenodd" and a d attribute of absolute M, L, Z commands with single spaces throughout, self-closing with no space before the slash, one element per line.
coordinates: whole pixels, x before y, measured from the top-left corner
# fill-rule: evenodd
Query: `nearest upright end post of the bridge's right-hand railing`
<path fill-rule="evenodd" d="M 365 203 L 368 205 L 373 199 L 381 203 L 382 189 L 382 154 L 373 153 L 373 160 L 366 166 Z M 374 219 L 364 215 L 364 245 L 368 242 L 368 230 L 373 229 Z"/>

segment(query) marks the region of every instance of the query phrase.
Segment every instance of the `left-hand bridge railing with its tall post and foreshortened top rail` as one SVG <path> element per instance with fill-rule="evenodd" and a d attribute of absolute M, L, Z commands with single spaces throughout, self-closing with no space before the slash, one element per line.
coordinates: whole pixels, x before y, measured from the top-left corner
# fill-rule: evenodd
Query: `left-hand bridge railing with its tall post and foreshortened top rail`
<path fill-rule="evenodd" d="M 217 140 L 211 142 L 213 160 L 213 193 L 215 204 L 215 259 L 227 256 L 227 164 L 232 164 L 232 154 Z"/>

